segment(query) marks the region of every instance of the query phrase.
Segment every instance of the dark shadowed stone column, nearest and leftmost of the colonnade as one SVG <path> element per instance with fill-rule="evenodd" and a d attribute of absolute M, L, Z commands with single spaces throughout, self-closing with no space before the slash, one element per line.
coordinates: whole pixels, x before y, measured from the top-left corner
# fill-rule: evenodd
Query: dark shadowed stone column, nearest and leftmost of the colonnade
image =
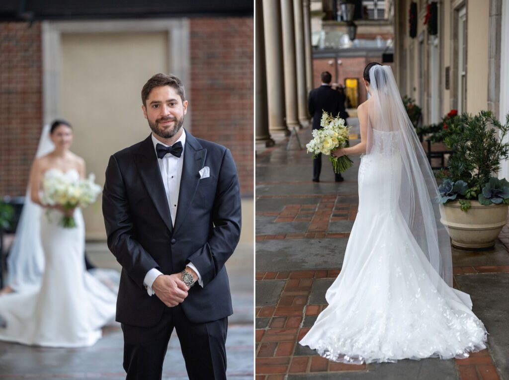
<path fill-rule="evenodd" d="M 274 140 L 269 133 L 269 111 L 267 108 L 267 76 L 265 70 L 265 43 L 263 38 L 263 12 L 262 0 L 256 0 L 256 62 L 254 70 L 256 75 L 255 87 L 255 118 L 256 118 L 256 143 L 264 144 L 265 147 L 274 145 Z"/>

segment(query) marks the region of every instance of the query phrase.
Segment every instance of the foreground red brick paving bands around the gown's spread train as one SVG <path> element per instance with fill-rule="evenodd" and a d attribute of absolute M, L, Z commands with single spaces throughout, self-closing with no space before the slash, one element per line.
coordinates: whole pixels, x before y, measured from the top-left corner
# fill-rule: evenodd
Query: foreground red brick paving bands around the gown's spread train
<path fill-rule="evenodd" d="M 509 266 L 458 267 L 455 274 L 509 272 Z M 289 374 L 367 371 L 370 365 L 335 363 L 320 356 L 294 356 L 298 341 L 309 331 L 304 316 L 318 315 L 327 305 L 310 305 L 315 279 L 336 278 L 340 271 L 257 272 L 256 280 L 286 280 L 276 306 L 256 308 L 257 318 L 270 318 L 256 330 L 256 380 L 284 380 Z M 488 349 L 456 360 L 461 380 L 500 380 Z"/>

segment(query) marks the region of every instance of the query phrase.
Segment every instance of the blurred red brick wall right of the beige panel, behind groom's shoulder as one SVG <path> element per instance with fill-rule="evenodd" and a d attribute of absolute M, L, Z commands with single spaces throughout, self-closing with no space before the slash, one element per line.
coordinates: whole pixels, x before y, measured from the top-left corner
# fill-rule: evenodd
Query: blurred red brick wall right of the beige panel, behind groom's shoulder
<path fill-rule="evenodd" d="M 192 133 L 228 147 L 253 194 L 253 18 L 190 22 Z"/>

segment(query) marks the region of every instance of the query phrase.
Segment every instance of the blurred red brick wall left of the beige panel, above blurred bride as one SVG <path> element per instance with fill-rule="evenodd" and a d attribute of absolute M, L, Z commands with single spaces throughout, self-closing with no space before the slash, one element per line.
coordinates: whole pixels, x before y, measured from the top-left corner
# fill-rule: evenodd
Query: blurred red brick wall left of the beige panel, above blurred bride
<path fill-rule="evenodd" d="M 0 23 L 0 196 L 24 195 L 41 129 L 40 24 Z"/>

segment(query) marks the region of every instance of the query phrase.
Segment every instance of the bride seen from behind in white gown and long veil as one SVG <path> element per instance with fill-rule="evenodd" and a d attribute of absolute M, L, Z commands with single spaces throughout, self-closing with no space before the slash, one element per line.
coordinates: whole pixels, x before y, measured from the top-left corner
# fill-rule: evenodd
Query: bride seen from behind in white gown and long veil
<path fill-rule="evenodd" d="M 370 63 L 358 107 L 359 209 L 327 308 L 299 342 L 344 363 L 466 358 L 486 348 L 470 296 L 452 287 L 450 240 L 426 154 L 389 66 Z"/>

